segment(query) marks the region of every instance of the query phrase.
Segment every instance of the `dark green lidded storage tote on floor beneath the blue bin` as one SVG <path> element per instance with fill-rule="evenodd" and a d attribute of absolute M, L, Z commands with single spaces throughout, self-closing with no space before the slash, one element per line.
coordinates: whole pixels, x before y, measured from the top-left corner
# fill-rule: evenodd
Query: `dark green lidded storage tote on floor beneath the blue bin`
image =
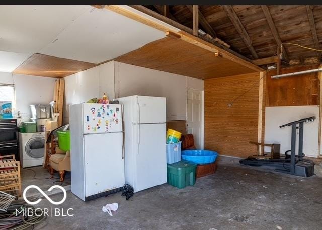
<path fill-rule="evenodd" d="M 167 164 L 167 183 L 177 188 L 194 185 L 196 182 L 196 168 L 197 164 L 190 161 Z"/>

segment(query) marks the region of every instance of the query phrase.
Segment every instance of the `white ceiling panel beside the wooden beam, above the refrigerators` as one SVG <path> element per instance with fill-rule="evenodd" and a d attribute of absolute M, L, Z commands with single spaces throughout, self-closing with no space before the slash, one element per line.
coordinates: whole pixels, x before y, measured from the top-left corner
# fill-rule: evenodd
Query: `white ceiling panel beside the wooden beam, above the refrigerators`
<path fill-rule="evenodd" d="M 87 10 L 40 53 L 100 63 L 164 38 L 165 33 L 106 9 Z"/>

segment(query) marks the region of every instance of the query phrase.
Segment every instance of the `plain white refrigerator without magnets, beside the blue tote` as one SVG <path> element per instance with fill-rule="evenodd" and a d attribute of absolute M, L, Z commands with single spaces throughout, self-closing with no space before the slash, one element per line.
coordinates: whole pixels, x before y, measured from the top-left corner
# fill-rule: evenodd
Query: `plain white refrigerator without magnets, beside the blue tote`
<path fill-rule="evenodd" d="M 138 192 L 167 182 L 166 98 L 117 98 L 124 108 L 125 183 Z"/>

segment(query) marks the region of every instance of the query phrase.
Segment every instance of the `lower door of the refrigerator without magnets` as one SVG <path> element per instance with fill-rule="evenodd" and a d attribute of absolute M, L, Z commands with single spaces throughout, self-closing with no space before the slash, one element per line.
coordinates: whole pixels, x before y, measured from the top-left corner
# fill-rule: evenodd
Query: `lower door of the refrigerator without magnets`
<path fill-rule="evenodd" d="M 134 192 L 138 192 L 167 182 L 166 124 L 135 126 L 139 128 L 139 149 Z"/>

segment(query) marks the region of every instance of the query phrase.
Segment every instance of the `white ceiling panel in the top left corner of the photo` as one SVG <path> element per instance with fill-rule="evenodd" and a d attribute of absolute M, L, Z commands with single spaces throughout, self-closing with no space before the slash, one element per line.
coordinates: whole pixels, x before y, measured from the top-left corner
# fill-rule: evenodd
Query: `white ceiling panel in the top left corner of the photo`
<path fill-rule="evenodd" d="M 33 54 L 90 6 L 0 6 L 0 50 Z"/>

